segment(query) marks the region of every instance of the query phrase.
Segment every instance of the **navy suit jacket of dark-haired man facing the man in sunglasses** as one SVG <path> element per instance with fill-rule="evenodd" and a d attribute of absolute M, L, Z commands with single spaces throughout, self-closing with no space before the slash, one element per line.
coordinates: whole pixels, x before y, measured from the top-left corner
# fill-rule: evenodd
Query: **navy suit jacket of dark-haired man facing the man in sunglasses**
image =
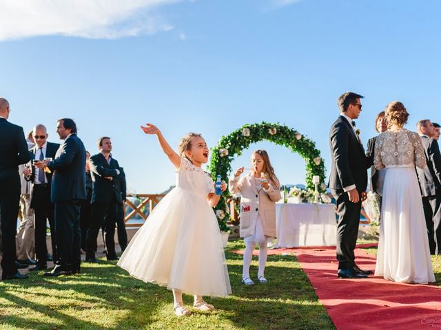
<path fill-rule="evenodd" d="M 72 199 L 86 199 L 85 148 L 76 134 L 69 135 L 59 147 L 54 160 L 49 162 L 52 171 L 50 201 L 59 203 Z"/>

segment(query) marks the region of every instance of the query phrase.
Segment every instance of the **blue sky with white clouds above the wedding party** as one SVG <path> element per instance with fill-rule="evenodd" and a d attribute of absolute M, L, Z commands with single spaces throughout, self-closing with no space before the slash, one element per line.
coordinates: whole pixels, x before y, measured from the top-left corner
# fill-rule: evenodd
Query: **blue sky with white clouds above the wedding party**
<path fill-rule="evenodd" d="M 330 168 L 329 126 L 344 91 L 365 96 L 362 140 L 391 100 L 441 122 L 441 3 L 373 0 L 0 0 L 0 96 L 25 130 L 71 117 L 86 148 L 112 137 L 129 186 L 158 193 L 172 165 L 140 124 L 172 146 L 189 131 L 212 147 L 245 123 L 280 122 L 316 142 Z M 34 6 L 34 7 L 33 7 Z M 283 184 L 300 156 L 268 142 Z M 247 166 L 251 150 L 236 158 Z"/>

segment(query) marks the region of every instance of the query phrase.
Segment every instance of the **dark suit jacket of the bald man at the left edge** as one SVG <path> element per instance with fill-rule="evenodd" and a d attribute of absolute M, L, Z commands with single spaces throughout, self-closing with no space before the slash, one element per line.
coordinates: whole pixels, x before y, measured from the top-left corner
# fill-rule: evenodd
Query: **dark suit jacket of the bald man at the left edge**
<path fill-rule="evenodd" d="M 20 193 L 19 164 L 29 159 L 23 129 L 0 118 L 0 192 Z"/>

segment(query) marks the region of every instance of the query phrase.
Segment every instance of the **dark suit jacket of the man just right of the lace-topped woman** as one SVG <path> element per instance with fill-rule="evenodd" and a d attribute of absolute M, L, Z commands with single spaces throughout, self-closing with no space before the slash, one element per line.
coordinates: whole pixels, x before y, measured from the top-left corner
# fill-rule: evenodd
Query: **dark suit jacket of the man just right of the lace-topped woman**
<path fill-rule="evenodd" d="M 417 166 L 416 172 L 420 182 L 423 197 L 435 196 L 441 193 L 441 154 L 438 142 L 425 135 L 421 136 L 427 165 Z"/>

